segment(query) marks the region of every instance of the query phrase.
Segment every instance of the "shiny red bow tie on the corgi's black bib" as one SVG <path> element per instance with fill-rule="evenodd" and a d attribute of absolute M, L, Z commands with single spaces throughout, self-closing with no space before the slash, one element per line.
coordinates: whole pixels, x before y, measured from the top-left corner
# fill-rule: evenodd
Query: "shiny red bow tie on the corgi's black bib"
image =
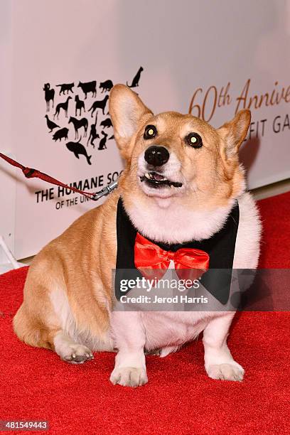
<path fill-rule="evenodd" d="M 194 281 L 208 270 L 210 256 L 200 249 L 181 248 L 165 251 L 137 232 L 134 248 L 135 267 L 146 279 L 160 279 L 174 262 L 179 278 Z"/>

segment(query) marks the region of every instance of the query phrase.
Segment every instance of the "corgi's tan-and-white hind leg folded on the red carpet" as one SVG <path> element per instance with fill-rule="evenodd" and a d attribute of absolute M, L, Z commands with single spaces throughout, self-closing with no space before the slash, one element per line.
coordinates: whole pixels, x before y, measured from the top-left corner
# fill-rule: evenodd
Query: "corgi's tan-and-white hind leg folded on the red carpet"
<path fill-rule="evenodd" d="M 28 276 L 24 293 L 25 301 L 13 320 L 20 340 L 37 348 L 54 350 L 67 363 L 85 363 L 93 358 L 76 333 L 75 319 L 63 289 L 50 291 Z"/>

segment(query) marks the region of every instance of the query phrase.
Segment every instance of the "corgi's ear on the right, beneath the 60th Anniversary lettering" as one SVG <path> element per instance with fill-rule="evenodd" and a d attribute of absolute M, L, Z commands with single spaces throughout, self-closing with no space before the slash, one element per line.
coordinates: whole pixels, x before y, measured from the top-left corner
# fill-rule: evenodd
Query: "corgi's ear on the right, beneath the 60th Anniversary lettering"
<path fill-rule="evenodd" d="M 227 158 L 237 155 L 242 142 L 247 136 L 250 122 L 250 110 L 240 110 L 232 121 L 226 122 L 218 129 L 218 134 L 220 134 L 220 137 L 225 144 L 225 156 Z"/>

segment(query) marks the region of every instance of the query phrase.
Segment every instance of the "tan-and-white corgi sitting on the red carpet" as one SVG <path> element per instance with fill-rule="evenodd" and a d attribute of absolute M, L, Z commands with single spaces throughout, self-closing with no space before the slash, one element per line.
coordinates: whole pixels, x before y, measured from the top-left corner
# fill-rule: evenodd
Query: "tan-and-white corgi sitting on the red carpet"
<path fill-rule="evenodd" d="M 241 381 L 244 370 L 227 347 L 235 311 L 116 311 L 112 270 L 120 200 L 136 232 L 168 245 L 210 240 L 238 205 L 232 267 L 257 267 L 261 225 L 238 160 L 250 112 L 214 129 L 191 114 L 154 115 L 129 87 L 115 85 L 109 113 L 126 163 L 118 187 L 33 259 L 14 331 L 68 363 L 116 351 L 110 380 L 131 387 L 147 382 L 145 353 L 166 356 L 203 332 L 208 376 Z"/>

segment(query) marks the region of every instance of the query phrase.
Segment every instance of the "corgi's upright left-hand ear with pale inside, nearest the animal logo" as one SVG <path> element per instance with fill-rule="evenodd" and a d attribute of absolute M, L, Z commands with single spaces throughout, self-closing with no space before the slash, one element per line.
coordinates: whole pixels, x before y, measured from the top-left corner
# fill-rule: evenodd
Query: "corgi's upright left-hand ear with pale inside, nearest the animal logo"
<path fill-rule="evenodd" d="M 138 95 L 126 85 L 114 85 L 109 93 L 109 114 L 114 127 L 114 138 L 124 159 L 131 156 L 130 142 L 139 126 L 153 115 Z"/>

